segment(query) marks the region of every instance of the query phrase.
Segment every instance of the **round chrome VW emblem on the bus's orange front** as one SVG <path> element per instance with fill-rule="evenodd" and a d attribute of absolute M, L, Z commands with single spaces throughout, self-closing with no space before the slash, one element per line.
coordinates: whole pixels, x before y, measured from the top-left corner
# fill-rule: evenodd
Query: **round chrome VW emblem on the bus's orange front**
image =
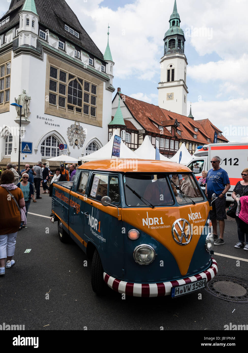
<path fill-rule="evenodd" d="M 173 223 L 171 232 L 173 239 L 179 245 L 189 244 L 193 233 L 189 221 L 184 218 L 179 218 Z"/>

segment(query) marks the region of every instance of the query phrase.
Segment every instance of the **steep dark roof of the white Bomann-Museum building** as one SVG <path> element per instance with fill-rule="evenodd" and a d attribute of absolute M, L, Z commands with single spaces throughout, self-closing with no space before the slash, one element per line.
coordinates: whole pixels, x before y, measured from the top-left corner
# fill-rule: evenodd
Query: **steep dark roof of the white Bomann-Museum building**
<path fill-rule="evenodd" d="M 0 34 L 12 28 L 19 22 L 18 12 L 22 10 L 25 0 L 12 0 L 9 10 L 2 16 L 2 19 L 10 15 L 10 21 L 0 27 Z M 98 49 L 91 37 L 81 26 L 77 16 L 71 10 L 65 0 L 35 0 L 36 10 L 40 17 L 40 24 L 53 33 L 58 34 L 80 48 L 87 50 L 97 58 L 104 60 L 103 54 Z M 77 32 L 79 38 L 64 29 L 67 24 Z"/>

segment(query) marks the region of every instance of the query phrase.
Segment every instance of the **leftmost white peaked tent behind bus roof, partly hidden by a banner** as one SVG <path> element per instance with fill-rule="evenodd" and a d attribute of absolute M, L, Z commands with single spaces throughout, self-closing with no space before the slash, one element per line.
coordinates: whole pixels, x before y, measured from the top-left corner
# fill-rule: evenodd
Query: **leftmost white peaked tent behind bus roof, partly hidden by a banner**
<path fill-rule="evenodd" d="M 93 152 L 87 156 L 80 157 L 81 161 L 89 162 L 89 161 L 97 161 L 97 160 L 111 158 L 115 135 L 120 136 L 118 130 L 115 130 L 113 132 L 113 136 L 111 137 L 109 142 L 106 143 L 98 151 Z M 115 158 L 115 157 L 113 157 L 113 158 Z M 120 148 L 120 158 L 135 158 L 135 159 L 137 159 L 137 155 L 134 153 L 134 151 L 132 151 L 130 148 L 128 148 L 125 145 L 125 143 L 122 142 L 122 140 L 121 140 L 121 148 Z"/>

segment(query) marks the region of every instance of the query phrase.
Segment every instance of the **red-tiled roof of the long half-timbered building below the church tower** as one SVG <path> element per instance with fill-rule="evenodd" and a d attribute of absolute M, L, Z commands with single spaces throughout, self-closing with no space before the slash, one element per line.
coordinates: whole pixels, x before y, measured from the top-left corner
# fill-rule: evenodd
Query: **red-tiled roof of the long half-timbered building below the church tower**
<path fill-rule="evenodd" d="M 212 142 L 212 133 L 210 134 L 204 127 L 206 121 L 208 121 L 211 126 L 214 126 L 208 119 L 204 120 L 205 123 L 202 124 L 202 120 L 193 120 L 188 116 L 170 112 L 169 110 L 154 106 L 150 103 L 139 101 L 127 95 L 121 94 L 121 98 L 122 96 L 125 96 L 125 100 L 123 99 L 123 101 L 129 112 L 147 132 L 160 134 L 161 137 L 168 136 L 170 138 L 178 138 L 179 140 L 189 140 L 190 142 L 197 143 L 198 145 L 209 144 Z M 173 126 L 176 119 L 180 123 L 180 126 L 175 129 L 174 137 L 171 132 L 167 130 L 166 126 Z M 157 125 L 164 126 L 163 134 L 161 134 L 161 130 L 159 130 L 153 122 Z M 197 132 L 194 131 L 195 127 L 198 129 Z M 179 135 L 177 131 L 181 131 L 181 134 Z M 217 129 L 217 132 L 218 131 L 220 132 L 220 130 Z M 196 139 L 194 138 L 194 135 L 197 135 Z M 210 139 L 210 142 L 207 141 L 207 138 Z M 220 136 L 218 138 L 220 138 Z M 227 139 L 224 139 L 224 137 L 222 139 L 228 141 Z"/>

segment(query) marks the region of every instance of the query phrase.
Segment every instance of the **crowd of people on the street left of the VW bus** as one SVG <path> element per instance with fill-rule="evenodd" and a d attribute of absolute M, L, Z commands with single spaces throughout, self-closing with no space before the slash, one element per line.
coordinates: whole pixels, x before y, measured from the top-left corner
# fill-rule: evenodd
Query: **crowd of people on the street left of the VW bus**
<path fill-rule="evenodd" d="M 5 274 L 5 268 L 15 264 L 12 257 L 15 253 L 17 232 L 27 227 L 31 200 L 37 202 L 36 199 L 41 199 L 40 184 L 43 188 L 42 194 L 49 190 L 49 196 L 52 196 L 53 182 L 73 181 L 75 173 L 75 164 L 71 164 L 69 170 L 61 164 L 52 175 L 46 163 L 40 161 L 35 166 L 26 164 L 21 175 L 18 174 L 15 164 L 8 163 L 4 172 L 0 169 L 0 275 Z"/>

